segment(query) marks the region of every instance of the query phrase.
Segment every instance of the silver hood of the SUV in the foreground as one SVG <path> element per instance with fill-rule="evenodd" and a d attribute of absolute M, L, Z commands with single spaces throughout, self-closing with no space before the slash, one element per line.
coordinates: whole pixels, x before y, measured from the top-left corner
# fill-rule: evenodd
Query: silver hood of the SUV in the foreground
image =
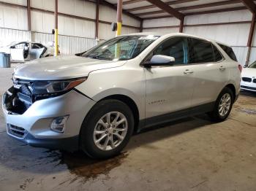
<path fill-rule="evenodd" d="M 103 61 L 75 55 L 39 58 L 23 63 L 15 69 L 15 78 L 29 80 L 56 80 L 87 77 L 91 71 L 110 69 L 127 61 Z"/>

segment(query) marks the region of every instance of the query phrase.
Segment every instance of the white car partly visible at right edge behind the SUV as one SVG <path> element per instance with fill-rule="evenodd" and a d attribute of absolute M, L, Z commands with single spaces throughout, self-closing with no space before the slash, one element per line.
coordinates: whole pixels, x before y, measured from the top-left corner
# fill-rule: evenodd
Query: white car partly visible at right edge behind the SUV
<path fill-rule="evenodd" d="M 243 69 L 241 89 L 256 92 L 256 61 Z"/>

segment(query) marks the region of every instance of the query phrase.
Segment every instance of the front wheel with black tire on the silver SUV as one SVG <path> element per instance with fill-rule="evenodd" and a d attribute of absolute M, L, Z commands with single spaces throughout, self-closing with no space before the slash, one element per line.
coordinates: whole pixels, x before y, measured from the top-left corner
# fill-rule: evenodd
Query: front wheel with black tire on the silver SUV
<path fill-rule="evenodd" d="M 118 125 L 119 122 L 121 123 Z M 115 99 L 99 101 L 83 121 L 80 130 L 80 149 L 89 157 L 98 159 L 118 155 L 128 144 L 134 123 L 132 111 L 127 104 Z M 103 131 L 105 133 L 102 133 Z M 116 136 L 117 133 L 119 136 Z M 103 136 L 104 138 L 99 141 Z M 107 146 L 105 142 L 108 142 Z"/>

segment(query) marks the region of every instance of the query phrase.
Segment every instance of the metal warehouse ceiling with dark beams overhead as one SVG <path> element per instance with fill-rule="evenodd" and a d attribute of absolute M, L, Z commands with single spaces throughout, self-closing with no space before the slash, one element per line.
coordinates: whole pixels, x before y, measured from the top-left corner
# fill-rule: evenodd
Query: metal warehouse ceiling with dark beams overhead
<path fill-rule="evenodd" d="M 115 4 L 117 0 L 106 0 Z M 162 7 L 162 2 L 165 7 Z M 166 7 L 166 5 L 168 7 Z M 123 9 L 142 19 L 154 19 L 162 17 L 178 17 L 176 15 L 200 15 L 214 12 L 227 12 L 233 10 L 250 9 L 255 12 L 253 0 L 124 0 Z M 165 9 L 167 8 L 167 9 Z M 170 8 L 170 9 L 169 9 Z M 173 9 L 173 10 L 172 10 Z M 172 14 L 170 11 L 173 11 Z M 178 17 L 179 18 L 179 17 Z"/>

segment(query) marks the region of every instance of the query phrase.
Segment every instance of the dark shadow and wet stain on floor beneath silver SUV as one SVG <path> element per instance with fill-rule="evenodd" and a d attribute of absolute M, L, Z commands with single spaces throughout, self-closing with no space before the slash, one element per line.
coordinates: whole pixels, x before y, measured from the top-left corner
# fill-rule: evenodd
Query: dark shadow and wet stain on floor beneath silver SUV
<path fill-rule="evenodd" d="M 188 117 L 183 120 L 167 122 L 162 125 L 156 125 L 146 128 L 132 136 L 125 152 L 112 157 L 108 160 L 94 160 L 83 152 L 62 152 L 59 150 L 40 149 L 20 144 L 20 142 L 10 138 L 7 140 L 8 147 L 4 152 L 10 152 L 10 157 L 6 160 L 0 160 L 1 165 L 18 171 L 29 171 L 33 174 L 54 174 L 61 171 L 69 171 L 70 176 L 64 182 L 72 183 L 76 179 L 87 181 L 95 179 L 99 175 L 108 176 L 108 173 L 124 163 L 129 156 L 129 152 L 136 147 L 151 144 L 154 141 L 167 139 L 189 130 L 202 128 L 211 124 L 206 115 L 197 117 Z M 3 151 L 1 151 L 3 152 Z"/>

